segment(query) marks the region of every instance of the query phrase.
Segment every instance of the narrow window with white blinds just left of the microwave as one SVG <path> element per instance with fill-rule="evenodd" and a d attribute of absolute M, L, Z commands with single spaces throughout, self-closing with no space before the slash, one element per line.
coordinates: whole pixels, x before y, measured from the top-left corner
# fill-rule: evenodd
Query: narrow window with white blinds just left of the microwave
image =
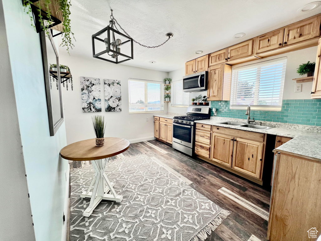
<path fill-rule="evenodd" d="M 183 92 L 183 80 L 172 81 L 171 85 L 171 103 L 170 106 L 188 106 L 189 93 Z"/>

